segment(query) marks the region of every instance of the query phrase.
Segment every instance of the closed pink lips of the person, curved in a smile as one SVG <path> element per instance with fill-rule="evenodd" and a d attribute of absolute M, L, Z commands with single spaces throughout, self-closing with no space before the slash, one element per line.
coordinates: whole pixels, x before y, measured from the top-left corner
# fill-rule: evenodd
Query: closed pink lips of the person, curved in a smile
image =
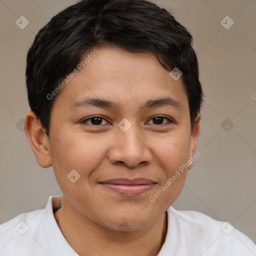
<path fill-rule="evenodd" d="M 156 183 L 149 179 L 136 178 L 136 179 L 109 179 L 103 182 L 99 182 L 102 186 L 115 191 L 121 195 L 138 195 L 150 188 Z"/>

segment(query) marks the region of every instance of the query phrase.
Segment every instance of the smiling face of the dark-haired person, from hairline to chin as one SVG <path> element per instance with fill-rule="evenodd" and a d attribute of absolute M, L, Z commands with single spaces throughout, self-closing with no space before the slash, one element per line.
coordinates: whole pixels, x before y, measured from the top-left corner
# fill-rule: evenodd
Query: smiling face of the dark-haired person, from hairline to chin
<path fill-rule="evenodd" d="M 104 46 L 56 96 L 48 146 L 69 209 L 135 230 L 180 194 L 186 169 L 172 177 L 193 156 L 198 135 L 181 78 L 151 53 Z"/>

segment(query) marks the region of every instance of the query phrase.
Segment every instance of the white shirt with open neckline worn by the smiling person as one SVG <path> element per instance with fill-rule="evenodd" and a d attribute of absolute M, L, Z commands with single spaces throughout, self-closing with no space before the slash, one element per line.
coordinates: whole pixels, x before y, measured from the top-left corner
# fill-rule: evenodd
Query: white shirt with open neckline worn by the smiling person
<path fill-rule="evenodd" d="M 0 256 L 78 256 L 54 218 L 53 209 L 60 206 L 61 196 L 50 196 L 44 209 L 2 223 Z M 228 222 L 196 211 L 178 211 L 172 206 L 167 210 L 167 219 L 167 234 L 158 256 L 256 255 L 252 240 Z M 97 254 L 103 255 L 100 251 Z"/>

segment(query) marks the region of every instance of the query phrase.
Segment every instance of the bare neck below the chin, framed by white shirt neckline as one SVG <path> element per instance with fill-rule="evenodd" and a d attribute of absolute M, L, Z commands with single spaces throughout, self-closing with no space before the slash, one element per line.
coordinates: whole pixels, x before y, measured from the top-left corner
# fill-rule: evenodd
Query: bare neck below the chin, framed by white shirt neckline
<path fill-rule="evenodd" d="M 166 213 L 145 228 L 127 232 L 96 223 L 67 200 L 62 200 L 54 217 L 66 241 L 80 256 L 112 256 L 116 251 L 122 256 L 156 256 L 167 232 Z"/>

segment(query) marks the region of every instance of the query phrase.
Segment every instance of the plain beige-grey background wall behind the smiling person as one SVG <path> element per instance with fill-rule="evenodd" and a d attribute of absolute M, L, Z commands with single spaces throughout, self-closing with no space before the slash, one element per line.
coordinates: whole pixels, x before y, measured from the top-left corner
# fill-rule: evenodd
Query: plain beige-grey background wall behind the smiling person
<path fill-rule="evenodd" d="M 37 31 L 74 2 L 0 0 L 0 223 L 61 194 L 52 168 L 37 164 L 20 119 L 29 110 L 27 50 Z M 206 96 L 197 143 L 202 154 L 173 206 L 228 220 L 256 242 L 256 1 L 154 2 L 191 32 Z M 15 24 L 21 15 L 29 21 L 24 29 Z M 229 29 L 220 23 L 226 15 L 234 21 Z M 221 126 L 226 118 L 234 124 L 229 131 Z"/>

